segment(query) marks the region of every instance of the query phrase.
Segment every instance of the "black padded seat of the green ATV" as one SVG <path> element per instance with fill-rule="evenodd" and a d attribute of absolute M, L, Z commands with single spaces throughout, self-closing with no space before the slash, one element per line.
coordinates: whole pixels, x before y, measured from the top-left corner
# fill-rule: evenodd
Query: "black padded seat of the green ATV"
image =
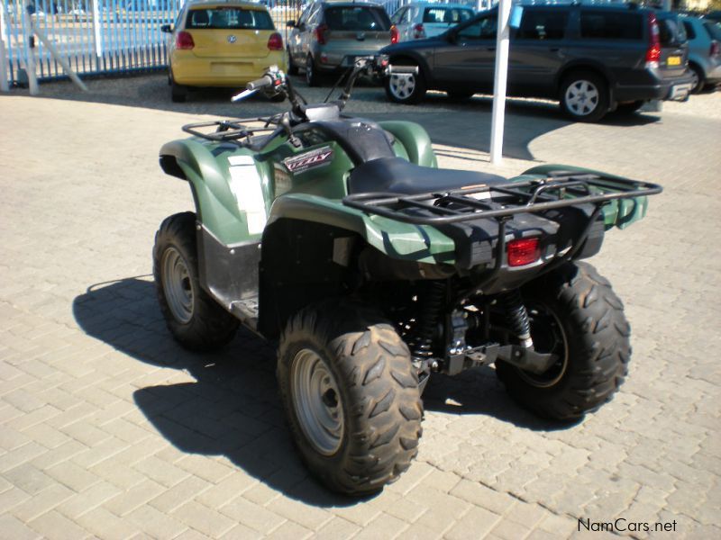
<path fill-rule="evenodd" d="M 507 179 L 499 175 L 417 166 L 402 157 L 381 157 L 353 170 L 348 178 L 348 193 L 443 193 L 504 182 Z"/>

